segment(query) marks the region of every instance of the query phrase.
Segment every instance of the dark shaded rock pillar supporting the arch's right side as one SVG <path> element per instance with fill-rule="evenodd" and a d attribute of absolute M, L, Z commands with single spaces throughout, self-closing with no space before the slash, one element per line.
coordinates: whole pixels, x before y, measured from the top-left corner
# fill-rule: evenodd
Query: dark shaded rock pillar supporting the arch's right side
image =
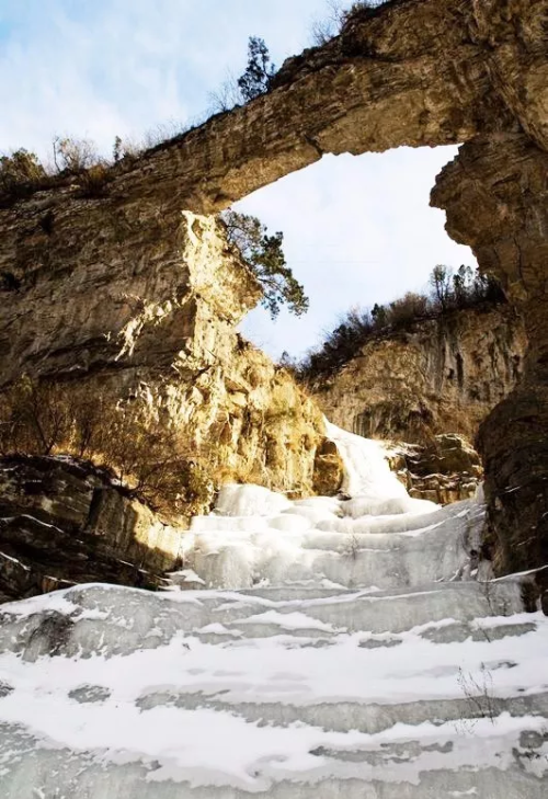
<path fill-rule="evenodd" d="M 522 135 L 460 148 L 432 194 L 447 230 L 472 248 L 521 311 L 529 347 L 514 391 L 483 423 L 495 562 L 510 571 L 548 560 L 548 153 Z M 546 572 L 543 572 L 546 580 Z"/>

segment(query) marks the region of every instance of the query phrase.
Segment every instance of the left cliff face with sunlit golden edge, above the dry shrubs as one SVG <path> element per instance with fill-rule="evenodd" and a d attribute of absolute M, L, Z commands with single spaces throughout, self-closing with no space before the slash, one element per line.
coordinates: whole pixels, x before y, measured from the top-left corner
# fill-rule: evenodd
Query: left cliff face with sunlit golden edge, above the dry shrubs
<path fill-rule="evenodd" d="M 139 409 L 145 435 L 171 427 L 214 486 L 310 492 L 321 413 L 235 332 L 260 288 L 216 220 L 82 201 L 45 232 L 46 206 L 12 209 L 0 248 L 15 286 L 0 308 L 0 385 L 26 374 L 69 401 L 106 395 Z"/>

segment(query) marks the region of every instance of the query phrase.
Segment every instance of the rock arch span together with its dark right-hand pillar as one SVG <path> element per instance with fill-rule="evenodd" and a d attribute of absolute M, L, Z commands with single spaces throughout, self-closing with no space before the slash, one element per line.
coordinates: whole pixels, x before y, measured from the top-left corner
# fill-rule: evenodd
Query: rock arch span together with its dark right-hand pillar
<path fill-rule="evenodd" d="M 286 61 L 267 94 L 118 164 L 94 210 L 106 227 L 119 214 L 158 226 L 168 258 L 182 209 L 221 210 L 326 152 L 463 144 L 432 203 L 502 281 L 529 336 L 523 383 L 480 435 L 501 569 L 548 561 L 547 21 L 547 0 L 365 10 L 332 42 Z M 32 261 L 21 233 L 37 203 L 2 212 L 3 260 Z M 79 252 L 73 222 L 89 206 L 66 189 L 44 203 L 60 220 L 58 251 Z M 124 231 L 116 236 L 123 248 Z"/>

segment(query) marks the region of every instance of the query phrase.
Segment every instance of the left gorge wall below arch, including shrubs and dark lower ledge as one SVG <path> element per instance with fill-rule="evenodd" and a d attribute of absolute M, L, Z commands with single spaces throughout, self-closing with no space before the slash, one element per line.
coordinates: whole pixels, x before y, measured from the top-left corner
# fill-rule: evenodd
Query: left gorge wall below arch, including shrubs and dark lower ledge
<path fill-rule="evenodd" d="M 157 586 L 222 482 L 298 496 L 330 475 L 319 409 L 236 333 L 261 293 L 214 218 L 81 201 L 46 231 L 52 198 L 4 212 L 2 228 L 0 449 L 8 440 L 12 455 L 0 458 L 0 600 L 76 582 Z M 78 455 L 72 438 L 44 457 L 64 416 L 95 463 L 111 466 L 115 446 L 137 495 L 59 457 Z"/>

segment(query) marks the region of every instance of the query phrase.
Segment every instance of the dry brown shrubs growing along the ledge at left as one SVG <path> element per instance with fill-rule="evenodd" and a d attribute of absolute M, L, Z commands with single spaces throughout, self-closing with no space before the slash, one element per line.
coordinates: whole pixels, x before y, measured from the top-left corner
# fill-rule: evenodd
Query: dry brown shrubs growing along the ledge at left
<path fill-rule="evenodd" d="M 206 460 L 139 400 L 23 377 L 0 396 L 0 455 L 70 455 L 107 469 L 124 491 L 173 517 L 208 509 Z"/>

